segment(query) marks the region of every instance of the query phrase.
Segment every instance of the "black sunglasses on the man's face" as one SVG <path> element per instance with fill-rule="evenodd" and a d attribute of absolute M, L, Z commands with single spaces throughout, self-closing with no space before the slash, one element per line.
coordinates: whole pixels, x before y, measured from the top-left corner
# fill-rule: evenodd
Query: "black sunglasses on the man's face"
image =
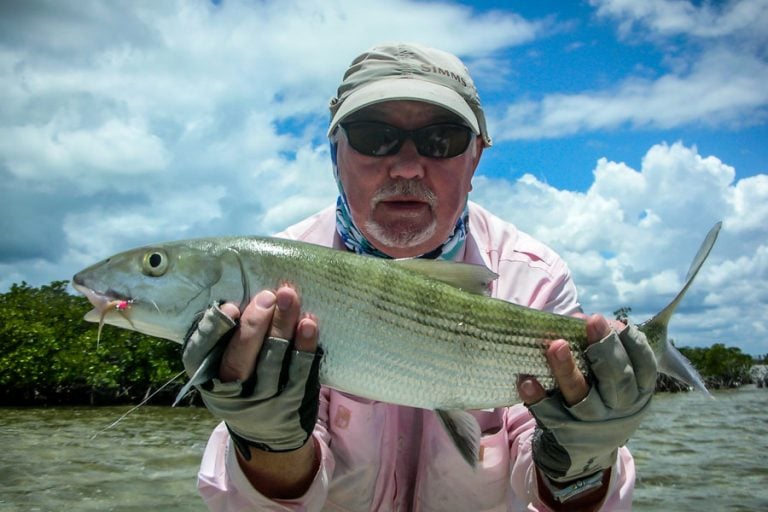
<path fill-rule="evenodd" d="M 376 121 L 341 123 L 341 127 L 349 145 L 366 156 L 396 155 L 406 139 L 411 139 L 421 156 L 452 158 L 467 150 L 474 135 L 469 126 L 455 123 L 431 124 L 417 130 L 402 130 Z"/>

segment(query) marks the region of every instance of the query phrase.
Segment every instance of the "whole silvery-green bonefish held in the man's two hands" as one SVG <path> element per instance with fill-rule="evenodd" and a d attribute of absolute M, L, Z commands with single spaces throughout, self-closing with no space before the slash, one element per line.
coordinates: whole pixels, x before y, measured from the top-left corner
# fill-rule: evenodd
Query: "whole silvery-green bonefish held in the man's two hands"
<path fill-rule="evenodd" d="M 667 324 L 715 243 L 716 224 L 682 290 L 640 325 L 661 372 L 706 392 L 667 339 Z M 434 409 L 468 459 L 479 437 L 464 411 L 519 402 L 519 375 L 553 387 L 544 356 L 566 339 L 588 371 L 582 319 L 487 297 L 496 275 L 483 266 L 385 260 L 268 237 L 203 238 L 151 245 L 101 261 L 73 278 L 94 305 L 86 320 L 183 343 L 212 303 L 241 309 L 262 289 L 289 282 L 320 322 L 321 383 L 372 400 Z M 192 383 L 211 378 L 217 354 Z M 469 419 L 468 419 L 469 418 Z M 476 460 L 476 459 L 473 459 Z"/>

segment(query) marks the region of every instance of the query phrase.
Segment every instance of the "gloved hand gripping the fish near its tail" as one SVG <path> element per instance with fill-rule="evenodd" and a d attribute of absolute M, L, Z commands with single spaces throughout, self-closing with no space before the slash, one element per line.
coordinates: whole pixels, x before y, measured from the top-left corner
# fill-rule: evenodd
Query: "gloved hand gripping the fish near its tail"
<path fill-rule="evenodd" d="M 593 315 L 586 329 L 591 382 L 577 368 L 568 344 L 557 340 L 547 360 L 559 390 L 547 396 L 535 379 L 518 383 L 537 422 L 534 461 L 555 482 L 610 468 L 618 447 L 646 415 L 656 385 L 656 359 L 634 326 L 614 322 L 612 330 L 604 317 Z"/>

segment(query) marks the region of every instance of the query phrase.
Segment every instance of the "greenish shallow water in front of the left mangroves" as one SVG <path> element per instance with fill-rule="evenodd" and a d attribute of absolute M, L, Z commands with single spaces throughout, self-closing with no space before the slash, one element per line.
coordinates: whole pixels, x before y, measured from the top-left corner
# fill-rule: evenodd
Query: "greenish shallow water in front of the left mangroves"
<path fill-rule="evenodd" d="M 204 511 L 195 477 L 217 421 L 195 408 L 0 409 L 0 511 Z"/>

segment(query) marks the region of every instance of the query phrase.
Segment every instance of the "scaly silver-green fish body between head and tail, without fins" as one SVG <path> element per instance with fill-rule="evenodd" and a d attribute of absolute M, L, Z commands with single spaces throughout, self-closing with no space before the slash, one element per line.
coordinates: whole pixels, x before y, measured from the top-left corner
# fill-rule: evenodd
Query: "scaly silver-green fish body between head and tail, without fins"
<path fill-rule="evenodd" d="M 579 354 L 585 342 L 582 320 L 469 294 L 397 262 L 275 245 L 251 248 L 252 279 L 296 286 L 319 320 L 321 381 L 344 392 L 432 409 L 510 405 L 521 374 L 553 387 L 545 340 L 569 339 Z"/>

